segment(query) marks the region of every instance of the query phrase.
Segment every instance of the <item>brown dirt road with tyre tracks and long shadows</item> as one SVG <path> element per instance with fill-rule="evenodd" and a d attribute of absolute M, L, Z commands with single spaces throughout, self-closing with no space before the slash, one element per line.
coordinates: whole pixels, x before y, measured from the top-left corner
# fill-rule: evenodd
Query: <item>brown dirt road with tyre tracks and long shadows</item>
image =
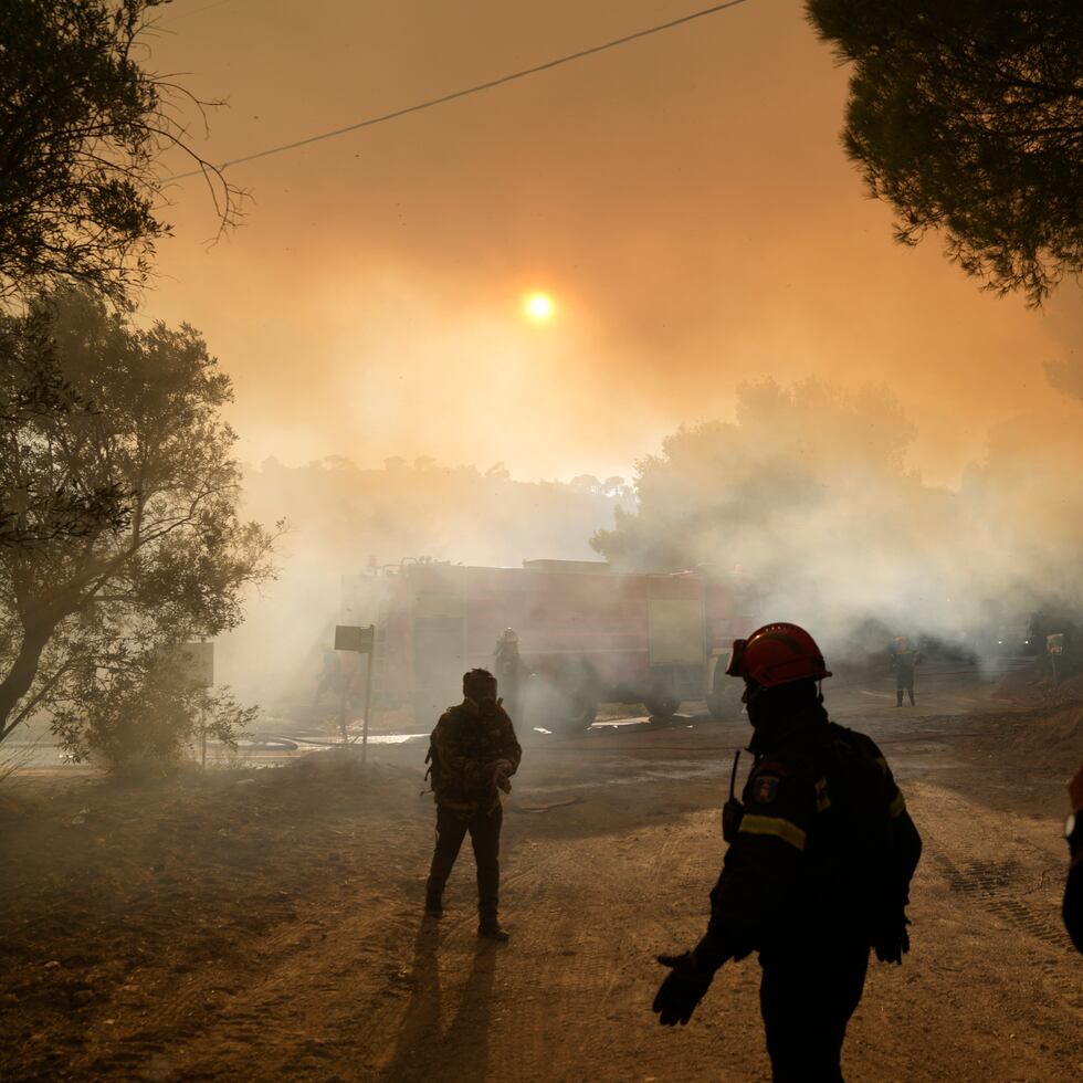
<path fill-rule="evenodd" d="M 926 852 L 913 950 L 873 965 L 848 1077 L 1083 1076 L 1083 959 L 1059 918 L 1083 706 L 946 684 L 896 712 L 868 691 L 829 705 L 883 743 Z M 417 745 L 364 777 L 325 754 L 155 790 L 9 780 L 0 1079 L 766 1079 L 754 959 L 685 1029 L 649 1011 L 653 956 L 702 932 L 746 738 L 698 719 L 528 748 L 506 946 L 474 935 L 469 860 L 448 916 L 420 919 Z"/>

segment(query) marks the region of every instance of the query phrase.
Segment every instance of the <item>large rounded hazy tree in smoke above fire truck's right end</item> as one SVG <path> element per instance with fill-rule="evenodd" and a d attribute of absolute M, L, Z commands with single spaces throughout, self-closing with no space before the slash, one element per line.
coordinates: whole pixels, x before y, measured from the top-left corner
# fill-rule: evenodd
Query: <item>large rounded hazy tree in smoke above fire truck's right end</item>
<path fill-rule="evenodd" d="M 743 385 L 735 421 L 682 425 L 661 454 L 638 461 L 637 511 L 617 508 L 613 529 L 591 545 L 628 570 L 767 572 L 778 554 L 765 538 L 808 534 L 831 516 L 845 534 L 863 514 L 856 494 L 916 485 L 904 469 L 913 437 L 897 403 L 874 388 L 844 396 L 817 380 Z"/>

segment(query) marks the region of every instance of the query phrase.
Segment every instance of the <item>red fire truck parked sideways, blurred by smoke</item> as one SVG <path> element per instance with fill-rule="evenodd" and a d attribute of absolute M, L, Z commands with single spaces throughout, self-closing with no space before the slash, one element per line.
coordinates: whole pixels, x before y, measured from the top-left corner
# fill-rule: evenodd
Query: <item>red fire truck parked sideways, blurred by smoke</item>
<path fill-rule="evenodd" d="M 567 733 L 589 727 L 601 703 L 642 703 L 661 717 L 690 700 L 706 700 L 718 717 L 739 707 L 723 673 L 733 640 L 751 627 L 742 596 L 738 582 L 704 570 L 421 560 L 345 576 L 341 620 L 376 627 L 377 707 L 412 705 L 419 722 L 461 698 L 466 670 L 492 667 L 496 642 L 512 628 L 532 687 L 547 693 L 545 717 L 528 724 Z"/>

